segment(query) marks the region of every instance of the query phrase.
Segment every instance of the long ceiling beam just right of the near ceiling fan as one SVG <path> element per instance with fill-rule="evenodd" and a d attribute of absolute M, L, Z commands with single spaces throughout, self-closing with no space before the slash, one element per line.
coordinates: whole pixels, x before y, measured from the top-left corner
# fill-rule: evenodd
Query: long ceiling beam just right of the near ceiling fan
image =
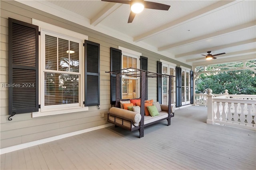
<path fill-rule="evenodd" d="M 218 2 L 216 2 L 216 3 L 214 3 L 214 4 L 210 5 L 210 6 L 207 6 L 206 8 L 202 8 L 201 10 L 198 10 L 196 12 L 188 14 L 188 15 L 186 15 L 186 16 L 184 16 L 182 18 L 179 18 L 179 19 L 177 19 L 175 21 L 172 21 L 170 23 L 167 23 L 165 25 L 162 25 L 160 27 L 152 29 L 152 30 L 150 30 L 150 31 L 148 31 L 146 33 L 138 35 L 138 36 L 134 37 L 133 41 L 134 42 L 142 41 L 142 40 L 144 40 L 144 39 L 146 39 L 148 37 L 152 37 L 152 36 L 154 36 L 154 35 L 156 35 L 158 33 L 162 33 L 164 31 L 167 31 L 167 30 L 172 29 L 174 27 L 178 27 L 179 25 L 182 25 L 182 24 L 187 23 L 189 21 L 195 20 L 197 18 L 201 18 L 203 16 L 206 16 L 208 14 L 216 12 L 217 10 L 221 10 L 223 8 L 226 8 L 228 6 L 236 4 L 238 2 L 240 2 L 240 1 L 235 1 L 235 0 L 228 0 L 228 1 L 221 0 L 221 1 L 218 1 Z M 170 10 L 172 10 L 172 8 Z"/>

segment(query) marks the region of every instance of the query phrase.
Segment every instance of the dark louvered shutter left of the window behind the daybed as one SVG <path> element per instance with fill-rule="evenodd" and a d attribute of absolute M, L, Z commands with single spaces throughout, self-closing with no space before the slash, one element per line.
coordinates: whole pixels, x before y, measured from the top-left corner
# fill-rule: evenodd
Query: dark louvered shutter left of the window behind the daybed
<path fill-rule="evenodd" d="M 110 71 L 121 69 L 121 58 L 122 58 L 122 51 L 111 47 L 110 48 Z M 121 88 L 121 85 L 120 85 L 120 88 Z M 120 97 L 121 96 L 119 96 L 119 98 Z M 116 74 L 110 74 L 110 104 L 115 104 L 115 102 L 116 102 Z"/>

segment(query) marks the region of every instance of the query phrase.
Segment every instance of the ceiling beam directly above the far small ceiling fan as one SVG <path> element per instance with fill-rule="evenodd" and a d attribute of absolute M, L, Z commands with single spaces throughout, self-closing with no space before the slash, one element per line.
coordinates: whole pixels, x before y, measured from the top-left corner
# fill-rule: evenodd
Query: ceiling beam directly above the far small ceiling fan
<path fill-rule="evenodd" d="M 244 45 L 244 44 L 249 44 L 249 43 L 255 43 L 255 42 L 256 42 L 256 38 L 248 39 L 248 40 L 239 41 L 239 42 L 236 42 L 236 43 L 231 43 L 231 44 L 211 47 L 210 51 L 218 51 L 218 50 L 229 48 L 229 47 L 234 47 L 234 46 Z M 202 49 L 202 50 L 191 51 L 191 52 L 188 52 L 188 53 L 183 53 L 183 54 L 175 55 L 175 58 L 186 57 L 186 56 L 189 56 L 189 55 L 202 54 L 202 53 L 205 53 L 206 51 L 209 51 L 209 49 Z"/>

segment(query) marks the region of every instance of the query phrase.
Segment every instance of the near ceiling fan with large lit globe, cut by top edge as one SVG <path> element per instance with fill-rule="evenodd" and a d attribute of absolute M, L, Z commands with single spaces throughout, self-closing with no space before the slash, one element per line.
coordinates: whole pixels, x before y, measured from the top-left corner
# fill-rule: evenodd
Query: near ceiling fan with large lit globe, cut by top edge
<path fill-rule="evenodd" d="M 150 2 L 144 0 L 102 0 L 106 2 L 116 2 L 121 4 L 130 4 L 131 12 L 128 19 L 128 23 L 131 23 L 136 14 L 142 12 L 144 8 L 154 9 L 154 10 L 166 10 L 168 11 L 170 5 L 160 4 L 157 2 Z"/>

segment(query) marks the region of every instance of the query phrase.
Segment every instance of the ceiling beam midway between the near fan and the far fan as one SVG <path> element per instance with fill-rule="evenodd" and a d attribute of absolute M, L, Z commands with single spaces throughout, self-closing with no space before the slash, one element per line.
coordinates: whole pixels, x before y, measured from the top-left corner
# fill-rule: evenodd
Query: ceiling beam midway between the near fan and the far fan
<path fill-rule="evenodd" d="M 240 31 L 240 30 L 243 30 L 243 29 L 248 29 L 248 28 L 251 28 L 251 27 L 255 27 L 255 21 L 251 21 L 251 22 L 248 22 L 248 23 L 245 23 L 245 24 L 242 24 L 242 25 L 237 25 L 237 26 L 234 26 L 234 27 L 231 27 L 231 28 L 228 28 L 228 29 L 223 29 L 223 30 L 220 30 L 220 31 L 216 31 L 214 33 L 209 33 L 207 35 L 202 35 L 202 36 L 199 36 L 199 37 L 188 39 L 186 41 L 181 41 L 181 42 L 178 42 L 178 43 L 174 43 L 174 44 L 166 45 L 166 46 L 163 46 L 163 47 L 159 47 L 158 51 L 166 51 L 168 49 L 173 49 L 173 48 L 180 47 L 180 46 L 183 46 L 183 45 L 188 45 L 188 44 L 196 43 L 196 42 L 199 42 L 199 41 L 212 39 L 212 38 L 215 38 L 215 37 L 219 37 L 221 35 L 230 34 L 232 32 Z"/>

